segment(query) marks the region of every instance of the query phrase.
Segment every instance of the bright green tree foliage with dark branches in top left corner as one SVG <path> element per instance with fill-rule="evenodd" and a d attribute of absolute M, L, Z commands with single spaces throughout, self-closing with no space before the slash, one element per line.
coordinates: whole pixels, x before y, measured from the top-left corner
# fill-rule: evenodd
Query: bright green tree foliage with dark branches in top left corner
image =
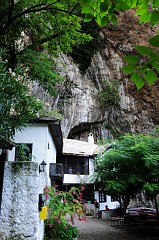
<path fill-rule="evenodd" d="M 18 62 L 28 66 L 33 79 L 49 92 L 55 91 L 59 77 L 53 69 L 53 57 L 89 39 L 81 32 L 78 15 L 75 0 L 3 1 L 0 47 L 6 49 L 9 67 L 14 68 Z"/>

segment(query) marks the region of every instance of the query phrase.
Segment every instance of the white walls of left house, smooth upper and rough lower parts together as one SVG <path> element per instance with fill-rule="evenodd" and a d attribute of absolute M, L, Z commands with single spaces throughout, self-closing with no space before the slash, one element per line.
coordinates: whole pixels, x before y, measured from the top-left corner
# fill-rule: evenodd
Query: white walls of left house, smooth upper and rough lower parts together
<path fill-rule="evenodd" d="M 44 187 L 50 185 L 49 163 L 56 162 L 56 146 L 47 124 L 28 125 L 22 131 L 15 133 L 14 141 L 16 143 L 32 143 L 33 158 L 32 162 L 27 162 L 27 164 L 35 165 L 36 171 L 33 167 L 33 169 L 21 170 L 20 174 L 14 174 L 11 165 L 16 164 L 15 148 L 8 151 L 8 162 L 6 162 L 4 172 L 0 239 L 3 239 L 1 236 L 8 236 L 7 234 L 9 236 L 19 234 L 18 240 L 43 240 L 44 221 L 39 218 L 38 198 L 39 194 L 43 193 Z M 39 164 L 43 160 L 47 166 L 45 172 L 39 173 Z M 30 174 L 33 176 L 33 172 L 35 176 L 31 178 Z M 23 187 L 18 188 L 18 183 Z M 32 197 L 33 195 L 34 197 Z M 13 204 L 13 199 L 15 199 L 15 204 Z M 11 213 L 14 213 L 14 221 Z M 24 235 L 25 237 L 23 237 Z"/>

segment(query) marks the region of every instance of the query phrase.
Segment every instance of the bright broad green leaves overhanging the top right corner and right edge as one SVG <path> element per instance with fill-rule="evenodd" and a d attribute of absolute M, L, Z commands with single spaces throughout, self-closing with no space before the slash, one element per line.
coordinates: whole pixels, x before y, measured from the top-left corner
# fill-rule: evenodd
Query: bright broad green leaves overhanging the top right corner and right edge
<path fill-rule="evenodd" d="M 101 27 L 108 23 L 118 23 L 118 13 L 135 9 L 135 15 L 139 17 L 139 23 L 151 23 L 156 27 L 159 22 L 159 0 L 83 0 L 82 12 L 85 14 L 85 22 L 95 19 Z M 123 72 L 130 74 L 133 81 L 140 89 L 144 83 L 153 84 L 159 77 L 159 35 L 149 39 L 147 46 L 136 46 L 136 56 L 129 55 L 124 58 L 127 65 Z"/>

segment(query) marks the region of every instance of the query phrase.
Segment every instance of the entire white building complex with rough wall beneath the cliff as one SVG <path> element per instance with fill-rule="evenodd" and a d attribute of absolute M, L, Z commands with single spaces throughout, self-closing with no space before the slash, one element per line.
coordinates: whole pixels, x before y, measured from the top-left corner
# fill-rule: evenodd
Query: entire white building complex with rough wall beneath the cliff
<path fill-rule="evenodd" d="M 72 186 L 84 185 L 83 200 L 88 204 L 94 206 L 97 199 L 100 210 L 104 210 L 105 205 L 110 209 L 116 207 L 117 202 L 98 189 L 94 181 L 98 145 L 92 141 L 62 139 L 59 120 L 37 119 L 16 131 L 14 143 L 0 144 L 1 240 L 43 240 L 44 221 L 39 213 L 46 185 L 54 184 L 66 191 Z M 41 170 L 43 161 L 44 171 Z"/>

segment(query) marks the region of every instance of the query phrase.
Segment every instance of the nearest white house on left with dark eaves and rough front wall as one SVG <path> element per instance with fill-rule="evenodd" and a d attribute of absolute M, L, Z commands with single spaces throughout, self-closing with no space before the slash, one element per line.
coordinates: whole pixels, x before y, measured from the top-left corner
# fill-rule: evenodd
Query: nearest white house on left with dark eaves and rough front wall
<path fill-rule="evenodd" d="M 39 210 L 43 205 L 43 189 L 51 183 L 49 164 L 56 163 L 62 152 L 60 122 L 38 119 L 16 131 L 14 142 L 16 147 L 12 150 L 3 150 L 6 161 L 4 177 L 0 177 L 0 239 L 42 240 L 44 221 L 40 220 Z M 31 161 L 19 161 L 21 146 L 28 147 L 23 157 L 28 160 L 31 154 Z M 47 164 L 44 172 L 39 169 L 43 160 Z"/>

